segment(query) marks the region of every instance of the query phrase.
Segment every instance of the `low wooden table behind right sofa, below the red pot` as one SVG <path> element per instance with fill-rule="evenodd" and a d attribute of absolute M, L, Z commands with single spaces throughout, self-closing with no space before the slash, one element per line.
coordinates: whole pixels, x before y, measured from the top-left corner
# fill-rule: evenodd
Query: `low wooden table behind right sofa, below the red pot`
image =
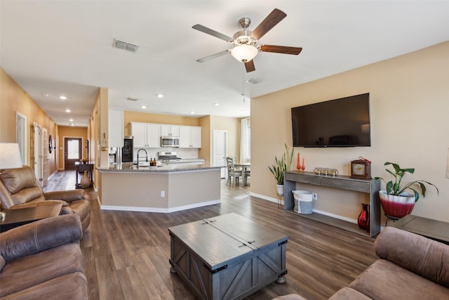
<path fill-rule="evenodd" d="M 410 231 L 437 240 L 444 244 L 449 244 L 449 223 L 433 219 L 423 218 L 422 216 L 413 216 L 408 214 L 396 221 L 393 227 Z"/>

